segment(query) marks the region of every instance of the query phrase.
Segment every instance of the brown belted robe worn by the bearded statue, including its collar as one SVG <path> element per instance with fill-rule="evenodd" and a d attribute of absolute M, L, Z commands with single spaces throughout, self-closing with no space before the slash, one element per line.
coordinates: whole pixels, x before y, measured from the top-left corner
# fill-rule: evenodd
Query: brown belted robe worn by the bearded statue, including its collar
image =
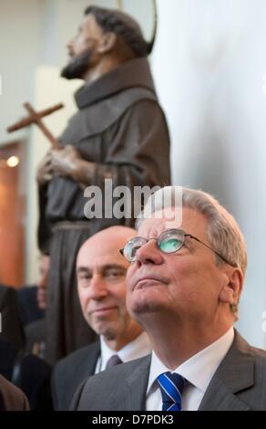
<path fill-rule="evenodd" d="M 146 58 L 130 60 L 79 89 L 76 101 L 77 114 L 60 141 L 74 145 L 85 160 L 96 163 L 87 186 L 104 190 L 106 178 L 112 179 L 113 187 L 126 185 L 131 190 L 169 184 L 169 131 Z M 46 357 L 55 362 L 94 340 L 77 299 L 79 247 L 97 231 L 109 225 L 134 225 L 134 219 L 87 220 L 84 190 L 62 177 L 54 177 L 39 194 L 39 243 L 51 256 Z M 75 225 L 84 220 L 86 226 Z M 62 221 L 73 227 L 55 227 Z"/>

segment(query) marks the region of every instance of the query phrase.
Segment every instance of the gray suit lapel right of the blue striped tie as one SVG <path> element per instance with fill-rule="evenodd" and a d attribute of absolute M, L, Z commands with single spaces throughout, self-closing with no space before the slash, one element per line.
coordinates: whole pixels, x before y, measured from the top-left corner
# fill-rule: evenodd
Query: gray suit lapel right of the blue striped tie
<path fill-rule="evenodd" d="M 235 331 L 235 339 L 200 403 L 199 411 L 244 411 L 249 410 L 237 393 L 254 384 L 254 356 L 249 344 Z"/>

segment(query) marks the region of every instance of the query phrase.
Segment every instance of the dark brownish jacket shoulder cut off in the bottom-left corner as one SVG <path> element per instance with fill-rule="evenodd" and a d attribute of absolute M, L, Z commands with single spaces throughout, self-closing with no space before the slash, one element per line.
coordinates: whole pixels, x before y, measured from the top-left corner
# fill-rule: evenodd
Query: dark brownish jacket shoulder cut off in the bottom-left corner
<path fill-rule="evenodd" d="M 0 375 L 0 411 L 27 410 L 29 406 L 25 394 Z"/>

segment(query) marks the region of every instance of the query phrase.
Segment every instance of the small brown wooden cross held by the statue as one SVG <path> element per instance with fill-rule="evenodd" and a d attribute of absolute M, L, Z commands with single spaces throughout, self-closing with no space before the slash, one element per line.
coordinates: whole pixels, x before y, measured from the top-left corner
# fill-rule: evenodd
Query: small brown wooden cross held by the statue
<path fill-rule="evenodd" d="M 42 110 L 39 112 L 36 112 L 36 110 L 33 109 L 33 107 L 29 103 L 24 103 L 24 107 L 29 112 L 29 116 L 27 116 L 25 119 L 20 120 L 19 122 L 16 122 L 14 125 L 11 125 L 6 129 L 7 132 L 13 132 L 17 130 L 21 130 L 24 127 L 28 127 L 32 123 L 35 123 L 37 127 L 43 133 L 46 135 L 46 138 L 51 142 L 54 149 L 60 149 L 59 141 L 56 140 L 56 138 L 53 136 L 53 134 L 47 129 L 46 125 L 42 121 L 42 118 L 44 118 L 47 115 L 50 115 L 56 110 L 62 109 L 64 107 L 64 104 L 56 104 L 56 106 L 53 106 L 49 109 Z"/>

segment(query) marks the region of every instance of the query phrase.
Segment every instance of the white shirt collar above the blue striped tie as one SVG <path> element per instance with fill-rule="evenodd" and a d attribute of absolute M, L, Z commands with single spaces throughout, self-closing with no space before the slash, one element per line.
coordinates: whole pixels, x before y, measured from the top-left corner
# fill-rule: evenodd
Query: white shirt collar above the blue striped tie
<path fill-rule="evenodd" d="M 148 379 L 148 392 L 159 374 L 166 371 L 179 373 L 200 391 L 205 392 L 214 372 L 230 350 L 233 339 L 234 330 L 231 327 L 219 340 L 212 342 L 210 346 L 199 351 L 188 361 L 183 362 L 175 371 L 169 370 L 153 351 Z"/>

